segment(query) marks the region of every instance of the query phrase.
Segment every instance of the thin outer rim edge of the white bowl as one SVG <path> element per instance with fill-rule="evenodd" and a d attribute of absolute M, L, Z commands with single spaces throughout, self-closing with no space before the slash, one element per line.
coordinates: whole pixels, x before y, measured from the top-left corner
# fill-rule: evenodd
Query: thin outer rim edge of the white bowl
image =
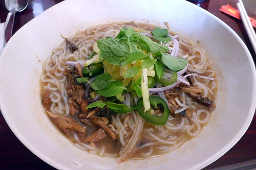
<path fill-rule="evenodd" d="M 72 0 L 68 0 L 68 1 L 72 1 Z M 67 2 L 68 2 L 67 1 Z M 56 6 L 60 6 L 62 4 L 66 3 L 65 1 L 63 2 L 60 2 L 58 4 L 56 4 L 55 6 L 47 9 L 46 11 L 51 11 L 53 10 Z M 198 9 L 200 10 L 203 10 L 201 9 L 200 7 L 198 7 Z M 45 12 L 46 12 L 45 11 Z M 43 13 L 45 13 L 43 12 Z M 251 73 L 252 73 L 252 76 L 253 76 L 253 80 L 252 80 L 252 83 L 253 83 L 253 87 L 256 87 L 256 71 L 255 71 L 255 65 L 254 65 L 254 62 L 252 60 L 252 57 L 251 57 L 251 54 L 247 48 L 247 46 L 245 45 L 245 43 L 242 41 L 242 39 L 238 36 L 238 34 L 236 32 L 234 32 L 228 25 L 226 25 L 225 22 L 223 22 L 221 19 L 219 19 L 218 17 L 216 17 L 215 15 L 209 13 L 212 17 L 215 17 L 215 19 L 218 20 L 219 23 L 221 23 L 221 25 L 223 25 L 225 28 L 227 28 L 229 30 L 229 32 L 231 32 L 233 34 L 234 37 L 237 38 L 237 40 L 241 43 L 241 45 L 243 46 L 243 48 L 245 49 L 246 51 L 246 54 L 247 54 L 247 58 L 249 60 L 249 63 L 250 63 L 250 68 L 251 68 Z M 40 14 L 42 15 L 42 14 Z M 28 23 L 26 23 L 25 27 L 29 24 L 31 24 L 33 22 L 33 20 L 37 19 L 36 17 L 34 19 L 32 19 L 31 21 L 29 21 Z M 24 27 L 24 26 L 23 26 Z M 21 28 L 23 29 L 23 28 Z M 20 29 L 19 29 L 20 30 Z M 19 30 L 15 33 L 15 34 L 18 34 L 19 33 Z M 13 36 L 15 37 L 15 35 Z M 11 38 L 10 41 L 13 41 L 14 38 Z M 7 51 L 7 48 L 8 48 L 8 43 L 6 45 L 6 47 L 4 48 L 1 56 L 0 56 L 0 63 L 2 62 L 2 58 L 5 54 L 5 52 Z M 233 139 L 223 147 L 223 149 L 221 150 L 221 152 L 218 152 L 216 155 L 212 156 L 208 162 L 204 162 L 203 164 L 200 165 L 199 168 L 202 168 L 202 167 L 205 167 L 207 165 L 209 165 L 210 163 L 216 161 L 218 158 L 220 158 L 221 156 L 223 156 L 229 149 L 231 149 L 233 147 L 234 144 L 236 144 L 240 138 L 244 135 L 244 133 L 246 132 L 246 130 L 248 129 L 251 121 L 252 121 L 252 118 L 253 118 L 253 115 L 254 115 L 254 112 L 255 112 L 255 108 L 256 108 L 256 90 L 253 89 L 252 93 L 254 94 L 254 98 L 253 100 L 251 101 L 251 105 L 250 105 L 250 112 L 251 114 L 249 114 L 250 116 L 247 117 L 246 119 L 246 122 L 248 122 L 248 124 L 244 124 L 244 126 L 241 128 L 240 132 L 233 137 Z M 8 117 L 8 114 L 6 113 L 5 111 L 5 108 L 4 106 L 2 105 L 2 103 L 0 103 L 0 109 L 1 109 L 1 112 L 3 114 L 3 117 L 5 118 L 8 126 L 10 127 L 10 129 L 12 130 L 12 132 L 15 134 L 15 136 L 32 152 L 34 153 L 37 157 L 39 157 L 40 159 L 44 160 L 45 162 L 47 162 L 48 164 L 50 164 L 51 166 L 55 167 L 55 168 L 61 168 L 61 169 L 65 169 L 67 168 L 66 166 L 63 166 L 61 165 L 60 163 L 54 161 L 54 160 L 51 160 L 49 159 L 46 155 L 40 153 L 33 145 L 31 145 L 26 138 L 24 138 L 21 134 L 19 134 L 19 132 L 17 131 L 17 129 L 15 129 L 15 126 L 12 124 L 11 120 L 9 119 Z M 253 114 L 252 114 L 253 113 Z"/>

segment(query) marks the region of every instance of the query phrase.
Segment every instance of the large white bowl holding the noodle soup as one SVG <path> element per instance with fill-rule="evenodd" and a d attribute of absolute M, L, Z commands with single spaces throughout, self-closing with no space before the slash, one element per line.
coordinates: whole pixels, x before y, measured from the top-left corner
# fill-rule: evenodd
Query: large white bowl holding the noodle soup
<path fill-rule="evenodd" d="M 170 23 L 175 32 L 200 40 L 214 61 L 217 108 L 203 132 L 179 150 L 159 157 L 116 160 L 74 147 L 42 112 L 41 64 L 52 48 L 78 30 L 102 22 Z M 186 1 L 66 0 L 28 22 L 0 58 L 1 111 L 11 130 L 39 158 L 58 169 L 199 169 L 225 154 L 243 136 L 255 111 L 255 67 L 240 39 L 224 22 Z"/>

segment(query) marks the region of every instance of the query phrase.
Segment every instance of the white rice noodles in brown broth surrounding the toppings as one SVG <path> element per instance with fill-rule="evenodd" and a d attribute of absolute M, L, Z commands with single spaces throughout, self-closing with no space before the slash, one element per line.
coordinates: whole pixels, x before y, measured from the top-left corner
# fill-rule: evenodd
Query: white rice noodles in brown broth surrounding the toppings
<path fill-rule="evenodd" d="M 67 37 L 68 40 L 71 40 L 79 47 L 77 51 L 72 52 L 67 47 L 65 40 L 53 48 L 52 55 L 42 63 L 44 72 L 40 77 L 42 83 L 41 90 L 44 91 L 48 89 L 51 93 L 52 104 L 49 110 L 52 113 L 71 116 L 68 103 L 69 95 L 67 92 L 68 79 L 65 76 L 65 69 L 71 70 L 77 63 L 80 63 L 83 67 L 83 63 L 92 53 L 93 44 L 98 39 L 108 36 L 116 37 L 120 28 L 128 28 L 130 26 L 144 30 L 154 30 L 156 28 L 149 23 L 141 25 L 136 21 L 129 23 L 102 23 L 98 26 L 92 26 L 85 31 L 78 31 L 75 35 Z M 143 34 L 152 37 L 151 33 Z M 168 104 L 170 101 L 168 98 L 166 99 L 163 91 L 176 87 L 180 82 L 189 85 L 185 78 L 187 76 L 193 76 L 195 85 L 203 90 L 203 95 L 215 99 L 214 95 L 217 88 L 217 81 L 215 79 L 216 73 L 210 68 L 212 62 L 207 60 L 203 48 L 171 30 L 169 30 L 169 36 L 173 36 L 172 40 L 163 42 L 163 44 L 168 46 L 169 52 L 173 57 L 183 57 L 188 61 L 188 64 L 185 68 L 177 72 L 178 81 L 173 85 L 163 87 L 157 83 L 156 88 L 149 89 L 152 95 L 158 94 L 158 96 Z M 182 77 L 186 70 L 193 73 Z M 173 71 L 169 69 L 164 68 L 164 71 L 164 76 L 168 76 L 169 78 L 173 74 Z M 94 79 L 95 77 L 90 79 L 90 82 Z M 87 88 L 88 85 L 88 83 L 85 84 L 85 88 Z M 126 92 L 124 99 L 123 104 L 131 106 L 136 104 L 139 98 Z M 156 153 L 160 154 L 175 151 L 191 137 L 200 134 L 203 127 L 209 122 L 211 112 L 204 108 L 198 108 L 198 104 L 193 102 L 184 92 L 181 94 L 181 98 L 175 98 L 174 102 L 176 102 L 177 106 L 180 106 L 180 108 L 175 111 L 176 114 L 184 110 L 189 110 L 191 116 L 181 118 L 169 116 L 165 125 L 155 126 L 145 122 L 137 111 L 113 114 L 111 116 L 113 121 L 112 125 L 118 136 L 118 143 L 122 148 L 118 154 L 109 151 L 108 145 L 103 144 L 102 147 L 95 148 L 93 144 L 82 143 L 79 141 L 76 133 L 73 135 L 75 147 L 93 155 L 97 154 L 101 157 L 117 158 L 117 163 L 121 163 L 129 158 L 146 158 L 154 156 Z M 162 116 L 162 113 L 158 113 L 158 116 Z M 84 125 L 82 122 L 79 123 Z"/>

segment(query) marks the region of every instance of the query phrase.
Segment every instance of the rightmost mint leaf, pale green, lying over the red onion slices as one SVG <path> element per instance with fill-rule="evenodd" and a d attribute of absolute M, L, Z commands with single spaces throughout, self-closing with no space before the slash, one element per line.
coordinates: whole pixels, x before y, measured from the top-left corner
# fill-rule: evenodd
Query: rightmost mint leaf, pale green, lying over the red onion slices
<path fill-rule="evenodd" d="M 162 54 L 162 62 L 166 65 L 170 70 L 179 71 L 183 69 L 187 65 L 187 60 L 181 57 L 173 57 L 170 54 L 163 53 Z"/>

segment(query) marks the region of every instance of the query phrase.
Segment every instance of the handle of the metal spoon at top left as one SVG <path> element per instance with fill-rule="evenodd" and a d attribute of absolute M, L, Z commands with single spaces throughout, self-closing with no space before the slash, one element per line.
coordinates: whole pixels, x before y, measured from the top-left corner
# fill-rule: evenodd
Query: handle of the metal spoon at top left
<path fill-rule="evenodd" d="M 12 36 L 12 28 L 13 28 L 13 21 L 14 21 L 15 11 L 10 11 L 7 15 L 5 21 L 5 36 L 4 36 L 4 46 L 9 41 Z"/>

